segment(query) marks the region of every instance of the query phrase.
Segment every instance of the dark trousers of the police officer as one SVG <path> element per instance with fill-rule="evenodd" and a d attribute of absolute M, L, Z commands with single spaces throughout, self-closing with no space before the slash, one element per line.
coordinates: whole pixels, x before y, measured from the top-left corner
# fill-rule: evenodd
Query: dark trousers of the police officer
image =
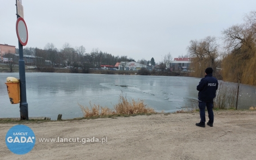
<path fill-rule="evenodd" d="M 214 112 L 212 111 L 212 108 L 214 108 L 214 102 L 203 102 L 203 101 L 198 101 L 199 102 L 199 109 L 200 109 L 200 119 L 202 123 L 205 123 L 205 106 L 208 111 L 208 117 L 209 117 L 209 122 L 211 124 L 214 123 Z"/>

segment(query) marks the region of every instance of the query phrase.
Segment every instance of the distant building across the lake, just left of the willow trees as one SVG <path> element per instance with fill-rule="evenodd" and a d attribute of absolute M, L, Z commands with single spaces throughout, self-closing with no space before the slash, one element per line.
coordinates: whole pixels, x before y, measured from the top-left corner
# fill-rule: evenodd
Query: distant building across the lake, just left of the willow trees
<path fill-rule="evenodd" d="M 191 64 L 191 58 L 174 58 L 173 61 L 170 61 L 170 69 L 172 71 L 178 70 L 189 70 Z"/>

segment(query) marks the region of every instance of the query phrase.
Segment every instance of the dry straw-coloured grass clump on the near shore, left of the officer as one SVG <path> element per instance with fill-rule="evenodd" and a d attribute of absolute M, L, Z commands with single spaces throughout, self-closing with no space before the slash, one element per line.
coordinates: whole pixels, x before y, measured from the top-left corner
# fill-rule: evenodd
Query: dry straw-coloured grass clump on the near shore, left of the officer
<path fill-rule="evenodd" d="M 99 104 L 91 104 L 90 108 L 84 107 L 78 103 L 80 106 L 83 116 L 85 118 L 95 117 L 95 116 L 106 116 L 106 115 L 131 115 L 131 114 L 152 114 L 156 113 L 153 108 L 147 107 L 147 104 L 143 100 L 131 101 L 127 100 L 123 93 L 119 96 L 119 101 L 114 105 L 114 109 L 109 109 L 108 107 L 101 107 Z"/>

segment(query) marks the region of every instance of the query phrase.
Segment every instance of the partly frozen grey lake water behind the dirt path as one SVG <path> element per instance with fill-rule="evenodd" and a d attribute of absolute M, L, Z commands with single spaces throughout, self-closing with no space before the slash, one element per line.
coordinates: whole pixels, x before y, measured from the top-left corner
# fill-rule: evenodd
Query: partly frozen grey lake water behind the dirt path
<path fill-rule="evenodd" d="M 20 117 L 19 104 L 11 104 L 7 77 L 19 78 L 19 73 L 0 73 L 0 118 Z M 175 112 L 197 101 L 200 78 L 138 75 L 94 75 L 76 73 L 26 73 L 28 114 L 56 120 L 82 117 L 78 103 L 113 108 L 123 92 L 127 99 L 144 100 L 161 112 Z M 235 87 L 235 83 L 228 83 Z M 241 85 L 239 108 L 256 106 L 256 88 Z"/>

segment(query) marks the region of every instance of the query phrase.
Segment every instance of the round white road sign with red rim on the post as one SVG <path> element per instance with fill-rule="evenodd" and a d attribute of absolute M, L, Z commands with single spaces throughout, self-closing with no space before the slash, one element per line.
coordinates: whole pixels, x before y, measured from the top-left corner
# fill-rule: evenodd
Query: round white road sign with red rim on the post
<path fill-rule="evenodd" d="M 16 21 L 16 33 L 21 45 L 26 46 L 28 42 L 28 28 L 22 17 L 19 17 Z"/>

